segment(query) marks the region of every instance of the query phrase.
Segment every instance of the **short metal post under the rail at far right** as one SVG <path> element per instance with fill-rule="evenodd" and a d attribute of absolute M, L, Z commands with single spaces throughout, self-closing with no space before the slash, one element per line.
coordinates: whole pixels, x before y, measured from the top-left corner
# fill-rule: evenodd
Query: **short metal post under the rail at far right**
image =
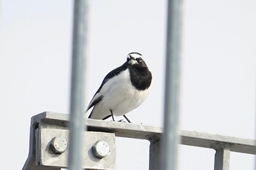
<path fill-rule="evenodd" d="M 224 148 L 216 150 L 214 159 L 214 170 L 229 170 L 230 169 L 230 150 Z"/>

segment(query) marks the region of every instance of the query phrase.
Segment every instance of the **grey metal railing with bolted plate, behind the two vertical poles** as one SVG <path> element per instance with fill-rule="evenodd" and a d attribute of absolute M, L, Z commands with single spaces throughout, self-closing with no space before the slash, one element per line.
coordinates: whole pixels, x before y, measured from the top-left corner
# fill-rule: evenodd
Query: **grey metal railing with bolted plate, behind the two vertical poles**
<path fill-rule="evenodd" d="M 148 153 L 149 169 L 159 170 L 159 147 L 162 128 L 103 120 L 85 119 L 84 121 L 88 127 L 88 131 L 84 133 L 87 133 L 86 137 L 89 139 L 83 143 L 83 169 L 116 169 L 114 138 L 115 136 L 120 136 L 148 140 L 150 142 Z M 55 152 L 50 147 L 50 144 L 56 137 L 68 140 L 68 124 L 69 115 L 55 112 L 43 112 L 31 117 L 29 157 L 23 170 L 60 170 L 67 167 L 68 148 L 64 148 L 66 150 L 62 148 L 62 152 Z M 181 136 L 180 144 L 216 150 L 214 170 L 229 169 L 230 152 L 256 154 L 256 142 L 252 139 L 205 134 L 195 131 L 179 131 L 179 134 Z M 92 152 L 91 147 L 99 140 L 107 142 L 110 147 L 110 153 L 105 158 L 96 158 Z M 63 142 L 57 144 L 59 144 L 59 147 L 63 146 Z M 68 142 L 67 145 L 69 145 Z"/>

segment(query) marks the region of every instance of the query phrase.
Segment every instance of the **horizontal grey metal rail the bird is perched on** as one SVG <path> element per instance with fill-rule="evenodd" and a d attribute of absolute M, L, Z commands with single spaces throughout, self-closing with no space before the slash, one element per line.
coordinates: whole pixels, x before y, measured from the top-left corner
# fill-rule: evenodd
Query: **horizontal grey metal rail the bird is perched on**
<path fill-rule="evenodd" d="M 53 125 L 67 127 L 69 116 L 56 112 L 43 112 L 33 117 L 34 121 L 47 121 Z M 151 125 L 140 125 L 134 123 L 118 123 L 103 120 L 86 119 L 88 131 L 112 132 L 116 136 L 147 139 L 150 142 L 157 142 L 162 135 L 163 128 Z M 214 150 L 229 148 L 233 152 L 243 152 L 256 155 L 256 141 L 233 136 L 222 136 L 217 134 L 199 133 L 196 131 L 180 131 L 181 144 L 206 147 Z"/>

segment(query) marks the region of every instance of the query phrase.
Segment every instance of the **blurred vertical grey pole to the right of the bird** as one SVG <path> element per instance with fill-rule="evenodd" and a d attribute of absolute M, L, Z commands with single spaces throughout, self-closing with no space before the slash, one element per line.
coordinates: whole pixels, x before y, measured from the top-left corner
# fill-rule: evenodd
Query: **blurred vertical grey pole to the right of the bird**
<path fill-rule="evenodd" d="M 165 66 L 165 120 L 161 144 L 162 170 L 175 170 L 177 162 L 180 83 L 181 1 L 169 0 Z"/>

